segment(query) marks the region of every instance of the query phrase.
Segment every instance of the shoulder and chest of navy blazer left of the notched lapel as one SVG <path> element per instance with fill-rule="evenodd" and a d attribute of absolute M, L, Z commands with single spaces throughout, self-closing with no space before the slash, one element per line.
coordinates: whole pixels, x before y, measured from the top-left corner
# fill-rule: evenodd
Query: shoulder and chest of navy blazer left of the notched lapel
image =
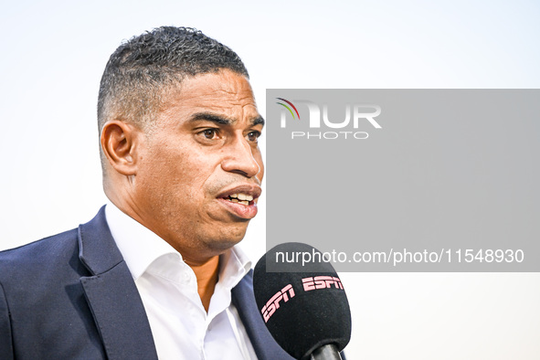
<path fill-rule="evenodd" d="M 87 276 L 77 228 L 2 251 L 0 358 L 106 358 L 80 283 Z"/>

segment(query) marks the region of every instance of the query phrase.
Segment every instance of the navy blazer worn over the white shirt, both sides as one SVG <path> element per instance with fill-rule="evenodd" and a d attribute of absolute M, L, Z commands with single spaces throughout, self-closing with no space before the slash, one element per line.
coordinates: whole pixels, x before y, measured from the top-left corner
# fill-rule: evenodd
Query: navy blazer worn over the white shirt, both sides
<path fill-rule="evenodd" d="M 259 359 L 287 359 L 253 296 L 252 271 L 232 302 Z M 0 359 L 157 359 L 132 274 L 104 206 L 90 222 L 0 252 Z"/>

